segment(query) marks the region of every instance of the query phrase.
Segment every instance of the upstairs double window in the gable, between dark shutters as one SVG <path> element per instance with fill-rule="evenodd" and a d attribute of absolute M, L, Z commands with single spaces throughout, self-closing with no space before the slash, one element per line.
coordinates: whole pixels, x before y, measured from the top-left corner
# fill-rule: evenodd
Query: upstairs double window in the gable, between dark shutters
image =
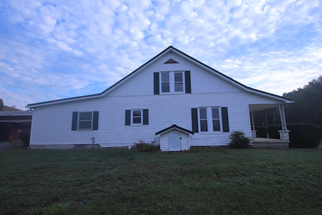
<path fill-rule="evenodd" d="M 160 73 L 161 93 L 180 93 L 184 92 L 184 73 L 183 71 L 163 71 Z"/>

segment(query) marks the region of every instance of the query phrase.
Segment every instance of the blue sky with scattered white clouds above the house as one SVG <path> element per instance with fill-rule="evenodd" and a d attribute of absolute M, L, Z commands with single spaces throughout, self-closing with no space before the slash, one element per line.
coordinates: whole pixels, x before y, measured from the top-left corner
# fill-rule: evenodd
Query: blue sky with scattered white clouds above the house
<path fill-rule="evenodd" d="M 169 46 L 282 95 L 322 74 L 322 0 L 0 1 L 0 99 L 101 93 Z"/>

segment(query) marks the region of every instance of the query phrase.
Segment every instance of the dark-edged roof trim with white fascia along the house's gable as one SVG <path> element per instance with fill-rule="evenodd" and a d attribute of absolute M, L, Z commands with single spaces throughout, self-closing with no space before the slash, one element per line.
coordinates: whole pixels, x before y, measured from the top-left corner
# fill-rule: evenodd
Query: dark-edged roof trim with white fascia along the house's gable
<path fill-rule="evenodd" d="M 208 70 L 213 75 L 216 75 L 217 77 L 229 82 L 230 84 L 232 84 L 232 85 L 234 85 L 234 86 L 236 86 L 236 87 L 238 87 L 240 89 L 243 89 L 244 91 L 254 93 L 254 94 L 258 94 L 258 95 L 262 95 L 262 96 L 266 96 L 266 97 L 270 97 L 272 99 L 277 99 L 277 100 L 283 101 L 285 103 L 291 103 L 292 102 L 292 100 L 289 99 L 289 98 L 274 95 L 274 94 L 271 94 L 271 93 L 267 93 L 267 92 L 264 92 L 264 91 L 260 91 L 260 90 L 256 90 L 256 89 L 247 87 L 247 86 L 245 86 L 245 85 L 243 85 L 243 84 L 241 84 L 241 83 L 229 78 L 228 76 L 220 73 L 216 69 L 211 68 L 210 66 L 208 66 L 208 65 L 200 62 L 199 60 L 189 56 L 188 54 L 186 54 L 186 53 L 174 48 L 173 46 L 169 46 L 168 48 L 166 48 L 165 50 L 163 50 L 162 52 L 160 52 L 159 54 L 157 54 L 156 56 L 151 58 L 149 61 L 147 61 L 146 63 L 144 63 L 143 65 L 141 65 L 137 69 L 135 69 L 134 71 L 132 71 L 132 73 L 130 73 L 129 75 L 127 75 L 126 77 L 124 77 L 120 81 L 116 82 L 114 85 L 112 85 L 111 87 L 109 87 L 108 89 L 103 91 L 102 93 L 93 94 L 93 95 L 87 95 L 87 96 L 71 97 L 71 98 L 66 98 L 66 99 L 58 99 L 58 100 L 40 102 L 40 103 L 34 103 L 34 104 L 28 104 L 27 107 L 28 108 L 35 108 L 35 107 L 49 105 L 49 104 L 57 104 L 57 103 L 63 103 L 63 102 L 71 102 L 71 101 L 78 101 L 78 100 L 94 99 L 94 98 L 98 98 L 98 97 L 103 97 L 103 96 L 107 95 L 109 92 L 111 92 L 112 90 L 114 90 L 119 85 L 125 83 L 134 74 L 138 73 L 139 71 L 141 71 L 142 69 L 144 69 L 145 67 L 147 67 L 148 65 L 150 65 L 151 63 L 153 63 L 154 61 L 156 61 L 157 59 L 159 59 L 160 57 L 164 56 L 165 54 L 167 54 L 169 52 L 173 52 L 173 53 L 176 53 L 176 54 L 182 56 L 183 58 L 187 59 L 188 61 L 190 61 L 190 62 L 192 62 L 192 63 L 194 63 L 194 64 L 196 64 L 196 65 L 198 65 L 200 67 L 203 67 L 204 69 Z"/>

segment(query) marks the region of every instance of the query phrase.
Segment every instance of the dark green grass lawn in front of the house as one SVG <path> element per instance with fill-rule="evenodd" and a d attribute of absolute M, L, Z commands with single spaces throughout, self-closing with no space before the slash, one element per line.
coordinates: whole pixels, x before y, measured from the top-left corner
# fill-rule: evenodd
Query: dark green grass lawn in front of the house
<path fill-rule="evenodd" d="M 322 148 L 0 151 L 0 214 L 322 214 Z"/>

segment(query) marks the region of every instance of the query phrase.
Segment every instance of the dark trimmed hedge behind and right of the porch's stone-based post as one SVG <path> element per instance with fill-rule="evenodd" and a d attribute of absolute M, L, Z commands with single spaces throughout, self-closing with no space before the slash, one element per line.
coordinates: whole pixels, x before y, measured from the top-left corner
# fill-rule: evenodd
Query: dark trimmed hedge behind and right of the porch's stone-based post
<path fill-rule="evenodd" d="M 289 148 L 316 148 L 322 140 L 322 126 L 307 123 L 289 123 L 286 126 L 290 130 Z M 279 130 L 282 130 L 282 125 L 269 125 L 269 137 L 279 139 Z"/>

